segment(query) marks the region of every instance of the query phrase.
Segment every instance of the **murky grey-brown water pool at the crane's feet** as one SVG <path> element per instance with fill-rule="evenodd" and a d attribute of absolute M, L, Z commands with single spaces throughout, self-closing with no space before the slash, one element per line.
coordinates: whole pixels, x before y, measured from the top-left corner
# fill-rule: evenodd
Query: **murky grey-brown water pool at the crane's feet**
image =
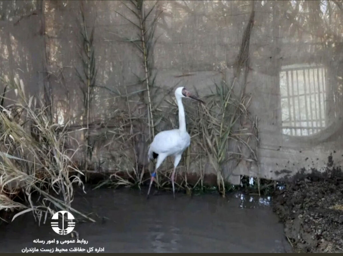
<path fill-rule="evenodd" d="M 50 222 L 38 227 L 30 213 L 0 225 L 0 252 L 30 248 L 84 248 L 93 252 L 290 252 L 283 225 L 269 197 L 229 194 L 187 196 L 170 193 L 145 198 L 146 191 L 101 189 L 78 193 L 73 207 L 92 212 L 96 223 L 76 222 L 79 239 L 58 235 Z M 35 239 L 45 244 L 34 243 Z M 55 244 L 46 245 L 54 240 Z M 76 241 L 76 240 L 75 240 Z"/>

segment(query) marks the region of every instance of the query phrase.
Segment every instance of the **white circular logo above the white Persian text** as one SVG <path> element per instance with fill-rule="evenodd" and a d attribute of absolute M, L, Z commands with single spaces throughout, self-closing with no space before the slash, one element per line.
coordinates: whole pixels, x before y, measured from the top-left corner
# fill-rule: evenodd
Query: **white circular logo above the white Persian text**
<path fill-rule="evenodd" d="M 58 211 L 51 218 L 51 228 L 59 235 L 69 234 L 74 227 L 74 216 L 68 211 Z"/>

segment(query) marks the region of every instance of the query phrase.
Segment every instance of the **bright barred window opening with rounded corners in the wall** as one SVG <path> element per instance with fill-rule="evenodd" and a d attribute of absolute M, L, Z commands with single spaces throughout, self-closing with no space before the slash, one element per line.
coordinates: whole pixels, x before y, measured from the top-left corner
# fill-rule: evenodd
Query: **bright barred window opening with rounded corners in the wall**
<path fill-rule="evenodd" d="M 308 136 L 326 126 L 326 68 L 283 66 L 280 72 L 282 133 Z"/>

